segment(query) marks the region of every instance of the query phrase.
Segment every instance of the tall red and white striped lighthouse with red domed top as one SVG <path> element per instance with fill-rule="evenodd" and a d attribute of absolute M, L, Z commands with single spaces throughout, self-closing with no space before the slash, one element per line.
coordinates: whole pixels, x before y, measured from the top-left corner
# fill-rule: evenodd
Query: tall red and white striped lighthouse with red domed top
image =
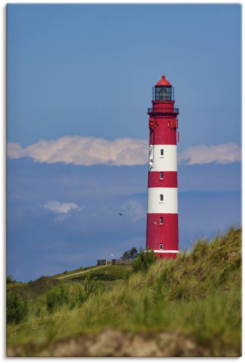
<path fill-rule="evenodd" d="M 149 115 L 149 169 L 146 248 L 158 258 L 176 258 L 178 250 L 177 142 L 179 109 L 174 86 L 162 76 L 153 87 Z"/>

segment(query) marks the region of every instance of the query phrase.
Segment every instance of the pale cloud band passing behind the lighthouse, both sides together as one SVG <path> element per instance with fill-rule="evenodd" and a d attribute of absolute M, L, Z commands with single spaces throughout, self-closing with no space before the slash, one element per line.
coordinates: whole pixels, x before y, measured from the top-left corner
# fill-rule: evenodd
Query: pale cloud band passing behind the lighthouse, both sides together
<path fill-rule="evenodd" d="M 7 154 L 11 159 L 25 156 L 36 162 L 90 166 L 94 164 L 144 165 L 148 163 L 148 140 L 121 138 L 108 141 L 92 136 L 64 136 L 56 140 L 41 139 L 26 148 L 9 142 Z M 178 162 L 191 164 L 227 164 L 241 160 L 241 149 L 236 143 L 213 146 L 191 146 L 178 154 Z"/>

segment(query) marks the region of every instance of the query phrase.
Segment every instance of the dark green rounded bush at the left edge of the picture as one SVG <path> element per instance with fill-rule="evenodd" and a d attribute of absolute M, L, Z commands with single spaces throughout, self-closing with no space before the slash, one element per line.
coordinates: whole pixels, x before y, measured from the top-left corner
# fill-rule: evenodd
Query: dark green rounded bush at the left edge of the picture
<path fill-rule="evenodd" d="M 23 321 L 28 314 L 29 304 L 17 295 L 15 291 L 7 290 L 7 324 L 15 322 L 16 324 Z"/>

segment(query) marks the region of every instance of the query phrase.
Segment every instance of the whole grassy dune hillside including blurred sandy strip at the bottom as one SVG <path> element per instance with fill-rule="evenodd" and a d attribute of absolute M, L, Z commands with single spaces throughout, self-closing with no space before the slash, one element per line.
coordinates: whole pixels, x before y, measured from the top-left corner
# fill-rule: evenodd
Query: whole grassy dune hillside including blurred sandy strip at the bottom
<path fill-rule="evenodd" d="M 61 286 L 52 277 L 57 287 L 30 297 L 26 318 L 7 325 L 8 356 L 241 355 L 241 228 L 147 272 L 121 267 L 94 271 L 88 299 L 84 275 Z"/>

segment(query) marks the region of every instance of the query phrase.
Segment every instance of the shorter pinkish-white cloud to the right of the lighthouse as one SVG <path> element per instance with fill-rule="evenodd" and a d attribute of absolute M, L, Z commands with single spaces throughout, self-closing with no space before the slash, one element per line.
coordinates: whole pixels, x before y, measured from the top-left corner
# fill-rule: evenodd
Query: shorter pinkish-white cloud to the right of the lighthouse
<path fill-rule="evenodd" d="M 228 142 L 212 146 L 198 145 L 188 147 L 178 154 L 178 162 L 191 164 L 228 164 L 241 160 L 241 149 L 238 144 Z"/>

